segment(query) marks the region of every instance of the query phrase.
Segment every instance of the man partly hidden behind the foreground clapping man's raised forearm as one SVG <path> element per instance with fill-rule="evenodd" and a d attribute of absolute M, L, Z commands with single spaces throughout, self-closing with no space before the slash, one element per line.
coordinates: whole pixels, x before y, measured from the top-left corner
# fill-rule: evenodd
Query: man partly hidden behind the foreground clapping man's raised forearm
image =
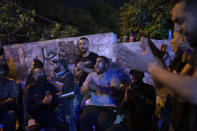
<path fill-rule="evenodd" d="M 185 68 L 191 68 L 191 65 L 188 63 L 190 59 L 190 54 L 192 50 L 188 48 L 188 42 L 184 39 L 184 35 L 181 34 L 180 25 L 174 26 L 173 39 L 171 40 L 172 50 L 175 54 L 174 60 L 170 63 L 169 70 L 175 73 L 181 73 L 188 75 L 190 72 L 183 72 Z M 184 47 L 184 48 L 183 48 Z M 189 71 L 187 69 L 187 71 Z M 191 108 L 191 104 L 186 101 L 183 97 L 173 94 L 169 97 L 170 110 L 170 129 L 174 131 L 185 131 L 189 130 L 188 124 L 188 114 Z"/>

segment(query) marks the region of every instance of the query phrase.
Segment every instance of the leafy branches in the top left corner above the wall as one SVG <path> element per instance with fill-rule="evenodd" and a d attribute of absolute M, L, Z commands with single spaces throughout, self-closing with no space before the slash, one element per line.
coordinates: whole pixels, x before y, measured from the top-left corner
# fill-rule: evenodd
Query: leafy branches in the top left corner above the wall
<path fill-rule="evenodd" d="M 35 11 L 24 13 L 14 4 L 0 2 L 0 12 L 0 39 L 8 44 L 20 42 L 20 38 L 27 39 L 27 30 L 35 23 Z M 32 32 L 28 33 L 32 34 Z"/>

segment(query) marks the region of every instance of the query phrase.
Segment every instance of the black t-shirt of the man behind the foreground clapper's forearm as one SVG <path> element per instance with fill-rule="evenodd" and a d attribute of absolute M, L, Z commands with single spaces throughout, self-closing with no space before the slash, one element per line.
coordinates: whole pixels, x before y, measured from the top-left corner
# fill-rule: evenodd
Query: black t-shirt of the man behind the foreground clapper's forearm
<path fill-rule="evenodd" d="M 175 70 L 176 72 L 181 72 L 184 66 L 187 64 L 187 61 L 182 61 L 183 52 L 177 54 L 174 60 L 171 62 L 169 68 L 171 71 Z M 187 101 L 184 101 L 183 97 L 175 95 L 174 97 L 167 97 L 166 109 L 169 110 L 171 125 L 175 131 L 186 131 L 189 130 L 189 112 L 191 104 Z"/>

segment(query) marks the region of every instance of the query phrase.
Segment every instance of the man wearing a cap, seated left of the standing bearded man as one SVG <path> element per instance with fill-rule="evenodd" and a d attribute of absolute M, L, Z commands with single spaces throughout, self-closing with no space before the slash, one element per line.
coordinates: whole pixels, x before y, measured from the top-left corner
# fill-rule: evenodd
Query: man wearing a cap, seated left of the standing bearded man
<path fill-rule="evenodd" d="M 54 61 L 54 63 L 55 78 L 53 80 L 60 94 L 66 94 L 74 91 L 74 77 L 68 70 L 67 61 L 62 58 Z M 72 97 L 65 98 L 60 101 L 57 113 L 59 120 L 62 122 L 66 122 L 67 118 L 70 118 L 70 120 L 72 119 L 72 103 Z"/>

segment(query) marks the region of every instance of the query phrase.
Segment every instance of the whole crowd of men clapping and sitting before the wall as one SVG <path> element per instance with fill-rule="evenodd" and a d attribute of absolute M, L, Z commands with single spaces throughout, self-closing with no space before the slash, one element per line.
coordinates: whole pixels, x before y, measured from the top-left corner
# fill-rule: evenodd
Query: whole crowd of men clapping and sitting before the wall
<path fill-rule="evenodd" d="M 118 61 L 89 51 L 81 37 L 74 74 L 64 58 L 53 60 L 54 77 L 33 59 L 25 86 L 7 77 L 9 66 L 0 44 L 0 124 L 5 131 L 196 131 L 197 1 L 172 4 L 175 59 L 165 63 L 142 37 L 143 53 L 120 46 Z M 129 68 L 127 73 L 124 68 Z M 144 72 L 153 83 L 144 83 Z M 167 89 L 165 97 L 160 90 Z M 73 93 L 74 92 L 74 93 Z M 17 123 L 17 124 L 16 124 Z"/>

